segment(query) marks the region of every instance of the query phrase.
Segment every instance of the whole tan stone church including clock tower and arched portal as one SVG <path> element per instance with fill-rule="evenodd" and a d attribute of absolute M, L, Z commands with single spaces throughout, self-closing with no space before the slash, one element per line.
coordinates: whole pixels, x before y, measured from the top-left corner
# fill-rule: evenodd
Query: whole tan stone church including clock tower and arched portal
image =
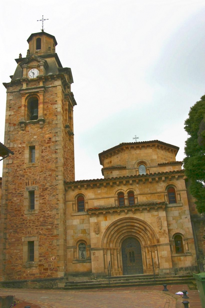
<path fill-rule="evenodd" d="M 43 30 L 27 40 L 6 87 L 0 285 L 175 276 L 205 269 L 204 220 L 179 148 L 159 140 L 99 154 L 102 178 L 75 181 L 71 69 Z"/>

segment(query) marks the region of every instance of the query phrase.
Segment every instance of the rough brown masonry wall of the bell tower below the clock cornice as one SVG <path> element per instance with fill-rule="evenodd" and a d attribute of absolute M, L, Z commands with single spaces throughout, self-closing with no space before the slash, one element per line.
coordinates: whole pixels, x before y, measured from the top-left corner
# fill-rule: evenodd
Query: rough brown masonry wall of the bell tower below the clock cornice
<path fill-rule="evenodd" d="M 62 277 L 65 271 L 63 155 L 72 155 L 70 160 L 73 159 L 73 140 L 69 140 L 65 132 L 62 136 L 61 80 L 44 85 L 48 86 L 43 100 L 44 126 L 30 123 L 25 130 L 21 130 L 18 123 L 21 85 L 7 88 L 5 145 L 15 155 L 5 159 L 3 165 L 4 242 L 1 248 L 4 253 L 1 263 L 4 280 Z M 67 144 L 64 151 L 62 143 Z M 37 149 L 36 161 L 29 163 L 26 153 L 33 144 Z M 28 210 L 29 190 L 35 190 L 35 210 Z M 27 241 L 34 241 L 33 263 L 27 262 Z"/>

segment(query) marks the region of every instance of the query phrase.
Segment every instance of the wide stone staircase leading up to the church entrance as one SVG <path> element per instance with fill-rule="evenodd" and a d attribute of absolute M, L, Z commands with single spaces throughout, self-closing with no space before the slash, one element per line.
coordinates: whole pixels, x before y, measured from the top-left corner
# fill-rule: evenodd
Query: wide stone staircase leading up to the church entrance
<path fill-rule="evenodd" d="M 115 277 L 106 277 L 98 280 L 81 280 L 81 281 L 67 281 L 65 283 L 65 290 L 79 290 L 79 289 L 104 289 L 104 288 L 119 288 L 130 286 L 154 286 L 163 284 L 188 284 L 191 289 L 195 289 L 196 283 L 192 275 L 181 276 L 159 276 L 156 275 L 124 275 Z"/>

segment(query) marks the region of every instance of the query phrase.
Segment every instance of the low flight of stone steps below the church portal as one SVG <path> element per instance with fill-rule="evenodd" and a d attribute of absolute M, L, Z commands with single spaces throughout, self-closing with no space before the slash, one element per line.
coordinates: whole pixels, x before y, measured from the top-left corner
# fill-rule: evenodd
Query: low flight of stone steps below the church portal
<path fill-rule="evenodd" d="M 181 283 L 190 283 L 195 284 L 195 279 L 193 276 L 189 277 L 166 277 L 166 278 L 159 278 L 157 277 L 155 280 L 154 278 L 147 278 L 147 279 L 140 279 L 140 280 L 126 280 L 122 278 L 119 279 L 111 279 L 110 283 L 108 280 L 88 280 L 88 281 L 68 281 L 65 283 L 65 290 L 71 289 L 97 289 L 97 288 L 110 288 L 110 287 L 125 287 L 125 286 L 149 286 L 149 285 L 163 285 L 163 284 L 181 284 Z"/>

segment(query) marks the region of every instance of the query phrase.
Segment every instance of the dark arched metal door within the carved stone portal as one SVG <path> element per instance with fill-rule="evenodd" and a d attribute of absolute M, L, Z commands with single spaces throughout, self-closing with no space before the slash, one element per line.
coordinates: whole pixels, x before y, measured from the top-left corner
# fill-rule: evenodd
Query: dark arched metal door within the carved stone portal
<path fill-rule="evenodd" d="M 143 274 L 142 250 L 134 237 L 126 238 L 121 245 L 123 275 Z"/>

